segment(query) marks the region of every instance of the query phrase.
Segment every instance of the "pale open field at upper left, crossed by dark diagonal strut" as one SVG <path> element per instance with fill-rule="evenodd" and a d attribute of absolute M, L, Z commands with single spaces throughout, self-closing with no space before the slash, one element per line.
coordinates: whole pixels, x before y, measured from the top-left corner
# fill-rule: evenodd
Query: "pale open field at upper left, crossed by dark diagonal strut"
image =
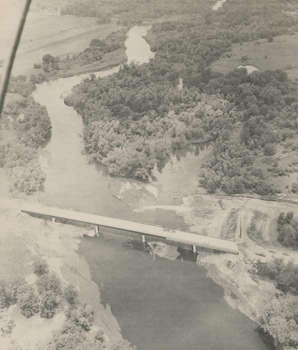
<path fill-rule="evenodd" d="M 3 37 L 0 58 L 7 58 L 11 49 L 12 38 L 17 21 L 13 17 L 8 28 L 6 23 L 0 25 L 2 34 L 9 29 L 9 39 Z M 53 56 L 65 56 L 78 53 L 88 46 L 93 38 L 105 38 L 110 32 L 119 29 L 114 21 L 109 24 L 96 24 L 96 18 L 59 16 L 50 13 L 30 13 L 25 23 L 21 42 L 17 51 L 13 74 L 31 74 L 34 62 L 40 62 L 45 53 Z M 14 30 L 13 30 L 14 29 Z M 7 35 L 6 35 L 7 36 Z"/>

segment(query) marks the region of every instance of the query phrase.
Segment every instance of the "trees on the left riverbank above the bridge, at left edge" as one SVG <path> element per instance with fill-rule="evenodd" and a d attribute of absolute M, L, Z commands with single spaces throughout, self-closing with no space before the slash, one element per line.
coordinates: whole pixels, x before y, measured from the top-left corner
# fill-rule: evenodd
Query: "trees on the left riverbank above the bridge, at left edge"
<path fill-rule="evenodd" d="M 35 148 L 49 137 L 51 122 L 46 108 L 29 96 L 8 102 L 1 126 L 17 131 L 17 142 L 0 145 L 0 167 L 4 166 L 10 191 L 31 194 L 45 179 Z"/>

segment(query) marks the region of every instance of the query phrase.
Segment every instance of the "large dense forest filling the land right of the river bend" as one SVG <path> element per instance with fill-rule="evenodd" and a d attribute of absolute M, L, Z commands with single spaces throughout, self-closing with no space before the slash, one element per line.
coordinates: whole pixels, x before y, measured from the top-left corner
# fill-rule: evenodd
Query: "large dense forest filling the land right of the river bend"
<path fill-rule="evenodd" d="M 115 2 L 118 18 L 121 6 L 127 18 L 135 14 L 132 4 L 133 0 Z M 163 5 L 150 2 L 159 14 Z M 147 5 L 137 9 L 142 6 Z M 185 7 L 174 5 L 168 11 L 185 14 Z M 282 12 L 285 8 L 277 0 L 231 0 L 212 11 L 209 3 L 198 1 L 191 4 L 193 15 L 188 13 L 187 20 L 181 16 L 155 24 L 147 36 L 151 49 L 157 50 L 153 60 L 142 66 L 124 65 L 107 78 L 84 79 L 66 99 L 83 117 L 91 158 L 112 173 L 147 178 L 156 160 L 166 158 L 172 149 L 194 139 L 214 141 L 214 155 L 201 174 L 209 192 L 275 193 L 254 162 L 257 156 L 274 155 L 276 144 L 296 132 L 296 86 L 281 70 L 248 74 L 242 68 L 222 74 L 207 65 L 233 42 L 296 30 L 297 20 Z M 141 16 L 147 17 L 144 12 Z M 177 89 L 179 77 L 182 90 Z M 212 113 L 207 108 L 195 111 L 205 94 L 221 104 Z M 240 140 L 231 141 L 236 121 L 243 128 Z"/>

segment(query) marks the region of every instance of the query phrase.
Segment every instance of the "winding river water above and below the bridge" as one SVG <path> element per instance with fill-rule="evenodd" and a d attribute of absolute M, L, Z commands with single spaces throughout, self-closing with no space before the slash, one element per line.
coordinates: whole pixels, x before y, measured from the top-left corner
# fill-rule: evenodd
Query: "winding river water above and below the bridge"
<path fill-rule="evenodd" d="M 130 29 L 125 42 L 128 61 L 146 62 L 153 57 L 142 38 L 147 29 L 148 26 Z M 102 77 L 118 69 L 95 74 Z M 40 151 L 46 180 L 39 201 L 186 230 L 182 218 L 173 211 L 132 212 L 109 192 L 107 170 L 99 164 L 88 164 L 80 137 L 81 118 L 61 98 L 83 76 L 44 82 L 34 91 L 35 100 L 46 106 L 52 122 L 51 138 Z M 173 155 L 163 172 L 156 170 L 156 186 L 169 190 L 170 183 L 174 185 L 182 177 L 187 178 L 187 186 L 189 182 L 193 184 L 197 173 L 195 157 L 203 157 L 205 151 L 188 149 L 184 154 Z M 179 166 L 184 169 L 181 178 L 177 177 L 181 170 L 175 171 Z M 160 192 L 164 193 L 162 189 Z M 160 202 L 167 203 L 164 194 Z M 159 258 L 144 251 L 138 239 L 103 233 L 100 237 L 83 238 L 78 253 L 87 260 L 102 300 L 110 305 L 124 337 L 139 350 L 265 349 L 254 330 L 256 324 L 225 302 L 223 289 L 206 277 L 206 270 L 195 264 L 191 252 L 180 248 L 178 251 L 183 261 L 180 257 Z"/>

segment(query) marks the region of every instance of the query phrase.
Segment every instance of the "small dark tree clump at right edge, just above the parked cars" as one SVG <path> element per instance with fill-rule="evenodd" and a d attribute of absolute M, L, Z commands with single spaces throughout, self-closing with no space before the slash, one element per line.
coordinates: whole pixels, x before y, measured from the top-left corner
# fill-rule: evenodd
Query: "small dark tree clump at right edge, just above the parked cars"
<path fill-rule="evenodd" d="M 288 247 L 298 248 L 298 220 L 293 212 L 281 212 L 277 218 L 278 241 Z"/>

